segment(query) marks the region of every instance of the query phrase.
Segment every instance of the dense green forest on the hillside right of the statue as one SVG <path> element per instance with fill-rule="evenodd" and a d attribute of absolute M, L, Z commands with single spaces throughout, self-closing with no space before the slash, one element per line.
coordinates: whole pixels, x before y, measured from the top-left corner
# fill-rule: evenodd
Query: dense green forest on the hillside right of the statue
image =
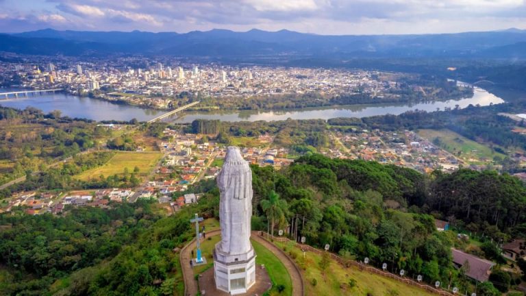
<path fill-rule="evenodd" d="M 452 265 L 451 247 L 458 239 L 451 232 L 437 232 L 435 217 L 458 227 L 476 221 L 490 227 L 491 235 L 505 237 L 513 225 L 525 223 L 525 217 L 515 214 L 526 205 L 523 184 L 491 171 L 464 169 L 427 177 L 412 169 L 313 154 L 284 171 L 253 167 L 253 175 L 255 196 L 263 197 L 261 205 L 270 203 L 268 188 L 275 188 L 287 202 L 283 212 L 288 225 L 297 227 L 296 238 L 305 236 L 317 247 L 329 244 L 345 258 L 368 257 L 377 266 L 386 262 L 391 271 L 421 274 L 429 283 L 440 280 L 464 288 L 468 283 L 466 271 Z M 482 208 L 479 214 L 481 205 L 488 210 Z M 501 258 L 494 244 L 484 245 L 486 256 Z M 493 289 L 488 286 L 484 293 L 492 295 Z"/>

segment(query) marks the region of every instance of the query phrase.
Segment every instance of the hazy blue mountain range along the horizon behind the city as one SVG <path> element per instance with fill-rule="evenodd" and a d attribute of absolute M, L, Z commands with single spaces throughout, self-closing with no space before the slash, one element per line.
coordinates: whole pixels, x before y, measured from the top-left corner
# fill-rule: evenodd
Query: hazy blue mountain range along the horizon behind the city
<path fill-rule="evenodd" d="M 0 41 L 2 51 L 68 56 L 142 53 L 218 58 L 517 58 L 512 48 L 518 50 L 521 42 L 526 42 L 526 31 L 512 28 L 459 34 L 325 36 L 259 29 L 248 32 L 213 29 L 185 34 L 42 29 L 4 34 Z"/>

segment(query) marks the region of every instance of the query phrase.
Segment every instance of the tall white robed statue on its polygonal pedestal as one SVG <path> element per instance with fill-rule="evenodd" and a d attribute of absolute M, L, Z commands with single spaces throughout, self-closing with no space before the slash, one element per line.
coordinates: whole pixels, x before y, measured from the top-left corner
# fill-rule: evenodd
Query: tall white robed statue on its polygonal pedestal
<path fill-rule="evenodd" d="M 217 184 L 221 242 L 214 251 L 216 288 L 230 295 L 247 293 L 255 284 L 256 255 L 250 243 L 252 173 L 237 147 L 228 147 Z"/>

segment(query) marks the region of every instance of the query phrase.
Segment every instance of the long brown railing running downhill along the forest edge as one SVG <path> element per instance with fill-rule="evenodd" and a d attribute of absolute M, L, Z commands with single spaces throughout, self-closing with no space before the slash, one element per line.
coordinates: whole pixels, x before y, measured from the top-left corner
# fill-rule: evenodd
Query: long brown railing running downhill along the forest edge
<path fill-rule="evenodd" d="M 354 266 L 354 267 L 358 267 L 358 269 L 360 269 L 360 271 L 367 271 L 367 272 L 370 272 L 370 273 L 376 273 L 377 275 L 382 275 L 384 277 L 390 277 L 394 280 L 397 280 L 399 282 L 403 282 L 405 284 L 410 284 L 412 286 L 417 286 L 418 288 L 422 288 L 428 292 L 431 292 L 431 293 L 436 293 L 438 295 L 445 295 L 445 296 L 456 296 L 455 294 L 453 293 L 450 293 L 449 291 L 444 291 L 442 289 L 438 289 L 438 288 L 434 288 L 432 286 L 429 286 L 428 284 L 421 284 L 419 282 L 415 282 L 414 280 L 410 279 L 409 277 L 401 277 L 399 275 L 395 275 L 393 273 L 390 273 L 390 272 L 387 272 L 387 271 L 383 271 L 381 269 L 377 269 L 376 267 L 372 267 L 370 265 L 367 265 L 367 264 L 364 264 L 362 262 L 357 262 L 357 261 L 353 261 L 353 260 L 348 260 L 348 259 L 345 259 L 345 258 L 342 258 L 334 253 L 331 253 L 331 252 L 328 252 L 328 251 L 323 251 L 321 249 L 316 249 L 315 247 L 312 247 L 310 245 L 303 245 L 303 244 L 299 244 L 299 243 L 296 243 L 294 240 L 290 240 L 286 237 L 276 237 L 276 236 L 271 236 L 270 234 L 267 234 L 266 232 L 263 232 L 262 233 L 262 236 L 264 236 L 264 238 L 266 238 L 266 240 L 275 240 L 277 242 L 280 242 L 280 243 L 294 243 L 294 246 L 297 247 L 298 249 L 301 249 L 301 250 L 307 250 L 307 251 L 310 251 L 310 252 L 313 252 L 313 253 L 316 253 L 316 254 L 323 254 L 323 253 L 327 253 L 329 254 L 329 257 L 331 257 L 333 260 L 335 260 L 336 262 L 342 264 L 344 267 L 350 267 L 351 265 Z"/>

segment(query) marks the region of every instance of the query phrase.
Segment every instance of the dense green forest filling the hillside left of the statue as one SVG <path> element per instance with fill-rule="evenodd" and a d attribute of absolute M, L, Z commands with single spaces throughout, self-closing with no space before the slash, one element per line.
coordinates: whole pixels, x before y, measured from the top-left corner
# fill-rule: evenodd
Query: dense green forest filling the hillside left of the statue
<path fill-rule="evenodd" d="M 176 216 L 148 201 L 64 216 L 0 214 L 1 295 L 181 295 L 179 255 L 194 212 L 214 217 L 218 191 Z"/>

